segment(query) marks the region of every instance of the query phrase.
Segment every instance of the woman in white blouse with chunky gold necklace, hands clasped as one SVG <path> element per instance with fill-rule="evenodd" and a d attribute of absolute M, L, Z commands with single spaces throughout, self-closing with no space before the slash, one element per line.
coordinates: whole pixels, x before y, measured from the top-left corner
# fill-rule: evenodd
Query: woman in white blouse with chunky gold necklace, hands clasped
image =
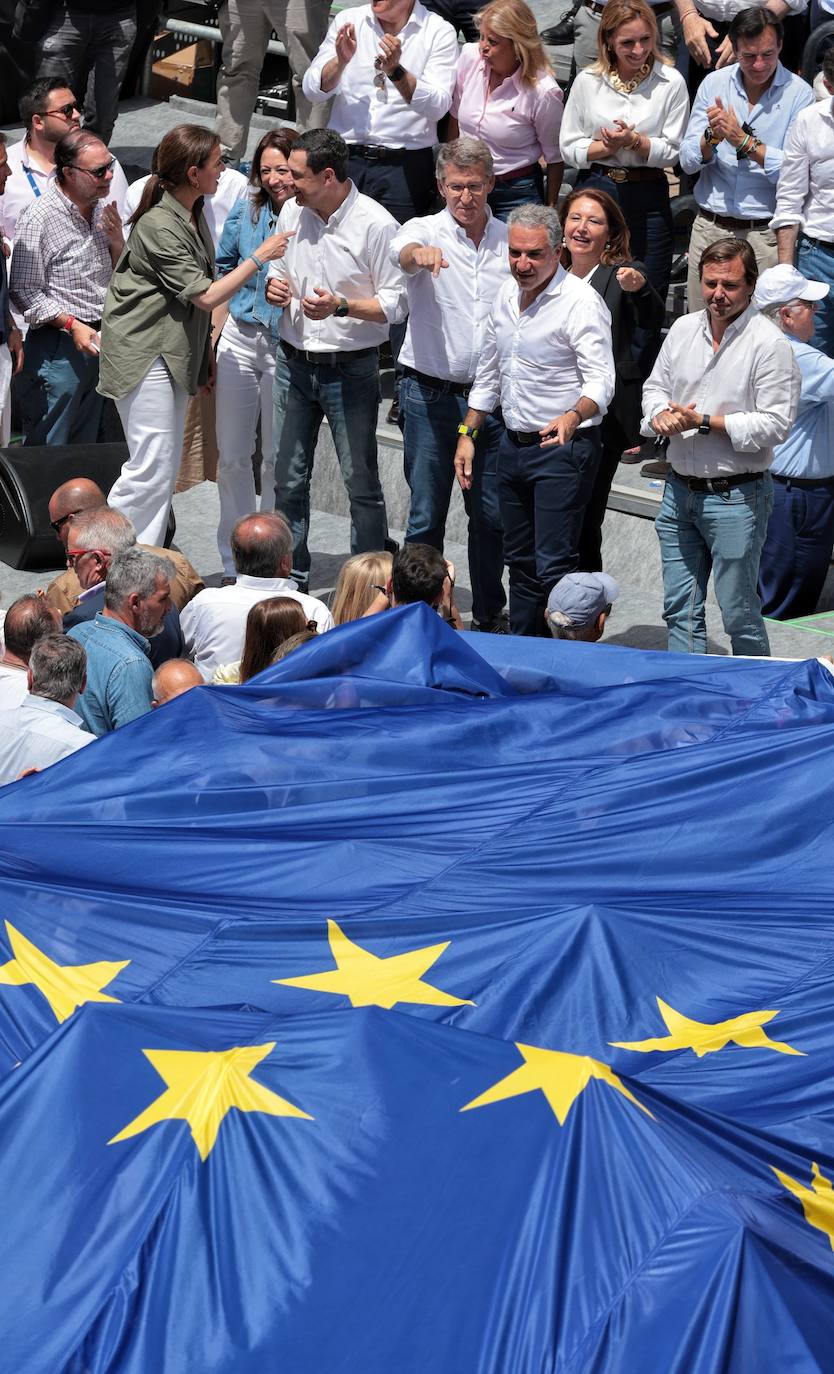
<path fill-rule="evenodd" d="M 562 155 L 580 168 L 577 188 L 614 196 L 633 256 L 665 300 L 675 232 L 664 169 L 677 161 L 687 126 L 686 82 L 661 56 L 657 21 L 643 0 L 609 0 L 598 47 L 598 62 L 580 71 L 565 106 Z"/>

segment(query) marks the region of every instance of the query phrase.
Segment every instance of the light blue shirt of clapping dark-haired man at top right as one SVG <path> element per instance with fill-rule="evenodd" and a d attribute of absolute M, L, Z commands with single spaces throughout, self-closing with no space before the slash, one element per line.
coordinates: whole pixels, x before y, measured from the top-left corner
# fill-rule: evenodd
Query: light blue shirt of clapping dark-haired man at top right
<path fill-rule="evenodd" d="M 702 162 L 701 136 L 708 122 L 706 111 L 716 99 L 721 100 L 724 109 L 732 106 L 739 124 L 749 124 L 756 129 L 756 136 L 765 146 L 764 168 L 750 158 L 736 158 L 735 148 L 727 140 L 717 144 L 709 162 Z M 787 131 L 800 110 L 813 103 L 813 91 L 808 82 L 793 76 L 780 62 L 761 100 L 752 109 L 736 62 L 720 71 L 710 71 L 698 87 L 680 144 L 680 165 L 684 172 L 701 173 L 695 184 L 698 205 L 713 214 L 730 214 L 736 220 L 768 220 L 776 209 L 776 183 Z"/>

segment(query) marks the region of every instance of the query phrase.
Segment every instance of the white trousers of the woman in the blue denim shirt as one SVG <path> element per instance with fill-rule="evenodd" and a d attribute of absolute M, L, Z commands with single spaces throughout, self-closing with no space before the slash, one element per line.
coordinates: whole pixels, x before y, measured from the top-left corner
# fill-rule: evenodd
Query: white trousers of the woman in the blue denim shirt
<path fill-rule="evenodd" d="M 272 452 L 272 382 L 275 344 L 260 324 L 239 324 L 229 315 L 217 345 L 217 548 L 223 570 L 235 574 L 229 539 L 242 515 L 275 506 Z M 254 489 L 251 455 L 261 416 L 261 500 Z"/>

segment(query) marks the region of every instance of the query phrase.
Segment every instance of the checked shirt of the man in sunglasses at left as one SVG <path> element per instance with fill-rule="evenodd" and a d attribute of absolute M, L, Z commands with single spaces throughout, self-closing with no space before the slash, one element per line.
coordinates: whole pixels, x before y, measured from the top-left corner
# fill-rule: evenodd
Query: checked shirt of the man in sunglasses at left
<path fill-rule="evenodd" d="M 54 184 L 18 220 L 11 260 L 10 293 L 32 328 L 56 315 L 74 315 L 87 324 L 102 319 L 113 275 L 110 245 L 99 203 L 88 224 Z"/>

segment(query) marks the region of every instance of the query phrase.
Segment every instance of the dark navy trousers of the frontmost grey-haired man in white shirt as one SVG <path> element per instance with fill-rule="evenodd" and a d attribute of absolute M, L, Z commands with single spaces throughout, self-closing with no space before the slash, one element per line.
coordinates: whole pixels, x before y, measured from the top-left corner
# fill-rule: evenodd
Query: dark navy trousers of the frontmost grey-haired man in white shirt
<path fill-rule="evenodd" d="M 510 629 L 547 635 L 544 607 L 551 588 L 578 569 L 585 506 L 599 466 L 595 425 L 570 444 L 522 447 L 504 434 L 499 447 L 499 503 L 504 558 L 510 567 Z"/>

